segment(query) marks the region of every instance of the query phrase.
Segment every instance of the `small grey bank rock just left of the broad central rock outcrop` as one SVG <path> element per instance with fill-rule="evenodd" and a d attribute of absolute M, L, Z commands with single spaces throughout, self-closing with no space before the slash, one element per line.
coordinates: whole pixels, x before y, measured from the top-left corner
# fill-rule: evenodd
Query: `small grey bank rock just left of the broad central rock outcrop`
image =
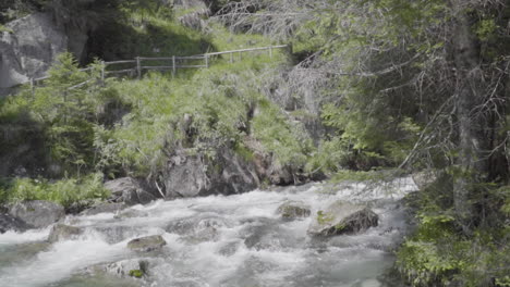
<path fill-rule="evenodd" d="M 107 182 L 105 188 L 110 190 L 112 201 L 124 202 L 127 205 L 147 204 L 156 200 L 156 197 L 146 190 L 138 180 L 131 177 Z"/>

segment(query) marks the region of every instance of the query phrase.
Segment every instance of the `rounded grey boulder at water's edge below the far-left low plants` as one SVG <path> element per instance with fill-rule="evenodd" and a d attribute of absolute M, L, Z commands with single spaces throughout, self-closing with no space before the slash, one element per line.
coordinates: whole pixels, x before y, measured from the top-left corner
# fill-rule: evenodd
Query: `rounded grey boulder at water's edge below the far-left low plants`
<path fill-rule="evenodd" d="M 9 214 L 35 228 L 46 227 L 65 216 L 62 205 L 44 200 L 15 203 L 9 209 Z"/>

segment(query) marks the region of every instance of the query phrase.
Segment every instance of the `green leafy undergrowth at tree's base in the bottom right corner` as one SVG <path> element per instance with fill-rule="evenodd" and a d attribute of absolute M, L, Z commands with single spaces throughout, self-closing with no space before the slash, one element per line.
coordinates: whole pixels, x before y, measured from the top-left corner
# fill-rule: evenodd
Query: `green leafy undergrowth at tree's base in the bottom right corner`
<path fill-rule="evenodd" d="M 490 222 L 465 236 L 459 232 L 448 180 L 440 177 L 411 200 L 418 208 L 418 226 L 398 251 L 400 272 L 412 286 L 493 286 L 493 280 L 505 286 L 510 272 L 510 237 L 508 215 L 500 209 L 505 210 L 508 187 L 485 194 L 485 216 Z"/>

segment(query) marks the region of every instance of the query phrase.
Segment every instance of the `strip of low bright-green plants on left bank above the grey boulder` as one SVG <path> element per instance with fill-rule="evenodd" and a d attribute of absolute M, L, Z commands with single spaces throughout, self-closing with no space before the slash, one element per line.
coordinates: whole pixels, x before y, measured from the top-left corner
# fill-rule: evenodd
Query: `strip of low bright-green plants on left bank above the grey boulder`
<path fill-rule="evenodd" d="M 3 201 L 49 200 L 69 207 L 88 199 L 106 199 L 109 194 L 102 186 L 102 174 L 81 178 L 49 182 L 44 178 L 14 178 L 3 189 Z M 1 192 L 0 192 L 1 194 Z"/>

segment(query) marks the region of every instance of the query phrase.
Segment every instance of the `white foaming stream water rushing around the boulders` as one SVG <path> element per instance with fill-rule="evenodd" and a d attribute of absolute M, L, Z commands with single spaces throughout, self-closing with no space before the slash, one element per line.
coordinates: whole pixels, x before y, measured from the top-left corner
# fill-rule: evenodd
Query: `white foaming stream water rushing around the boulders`
<path fill-rule="evenodd" d="M 408 228 L 399 200 L 414 190 L 411 178 L 377 187 L 312 184 L 156 201 L 132 207 L 130 217 L 70 215 L 64 223 L 84 230 L 72 240 L 46 242 L 50 228 L 0 235 L 0 286 L 382 286 L 381 275 L 394 262 L 391 250 Z M 379 226 L 311 238 L 312 219 L 288 222 L 276 213 L 288 200 L 305 202 L 312 214 L 336 200 L 365 202 L 379 215 Z M 139 254 L 126 248 L 131 239 L 149 235 L 165 238 L 162 251 Z M 99 272 L 138 259 L 148 262 L 143 279 Z"/>

